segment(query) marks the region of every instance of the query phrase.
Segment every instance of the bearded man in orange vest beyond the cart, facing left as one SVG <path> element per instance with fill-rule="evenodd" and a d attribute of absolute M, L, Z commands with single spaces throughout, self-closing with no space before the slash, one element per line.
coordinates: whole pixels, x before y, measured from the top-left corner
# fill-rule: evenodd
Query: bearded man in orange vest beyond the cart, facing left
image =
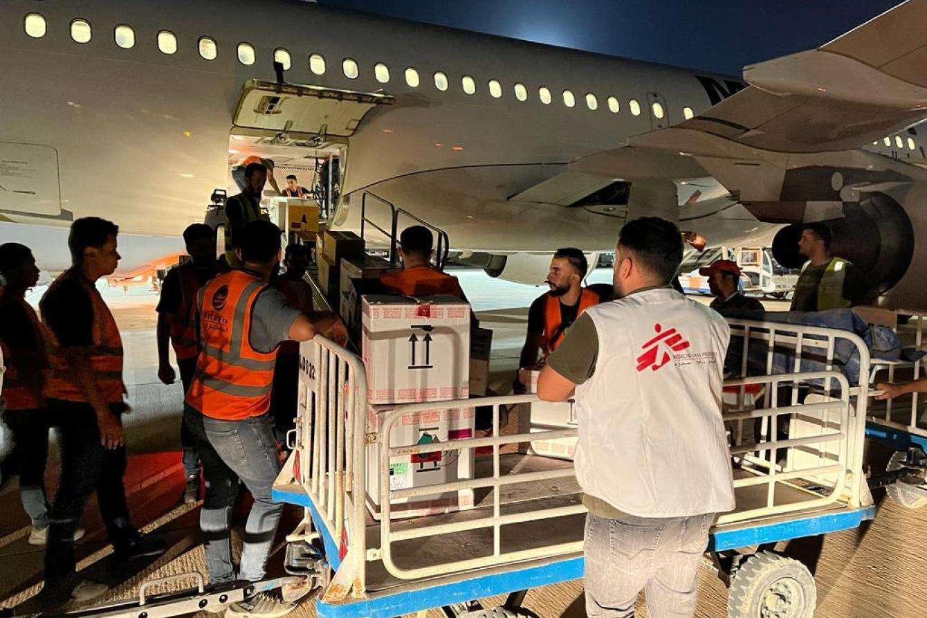
<path fill-rule="evenodd" d="M 589 263 L 582 251 L 568 247 L 553 254 L 551 269 L 544 281 L 551 287 L 527 313 L 527 338 L 519 367 L 532 367 L 551 354 L 564 339 L 566 328 L 586 309 L 599 303 L 599 295 L 582 287 Z"/>

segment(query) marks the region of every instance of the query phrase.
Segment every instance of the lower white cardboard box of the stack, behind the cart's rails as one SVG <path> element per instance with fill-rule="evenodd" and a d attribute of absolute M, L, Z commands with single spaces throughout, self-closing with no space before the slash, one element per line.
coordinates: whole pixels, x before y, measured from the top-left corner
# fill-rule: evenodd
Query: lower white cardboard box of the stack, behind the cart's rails
<path fill-rule="evenodd" d="M 392 409 L 394 406 L 369 406 L 367 431 L 380 431 L 383 420 Z M 451 410 L 437 407 L 424 412 L 411 412 L 402 415 L 393 425 L 389 444 L 409 446 L 465 440 L 474 436 L 475 422 L 476 413 L 472 407 Z M 381 517 L 380 449 L 386 446 L 385 437 L 380 437 L 382 442 L 367 445 L 367 509 L 376 520 Z M 407 489 L 472 479 L 473 459 L 472 448 L 392 457 L 389 462 L 389 487 Z M 391 501 L 390 506 L 392 519 L 447 513 L 472 509 L 474 493 L 472 489 L 461 489 L 413 498 L 397 498 Z"/>

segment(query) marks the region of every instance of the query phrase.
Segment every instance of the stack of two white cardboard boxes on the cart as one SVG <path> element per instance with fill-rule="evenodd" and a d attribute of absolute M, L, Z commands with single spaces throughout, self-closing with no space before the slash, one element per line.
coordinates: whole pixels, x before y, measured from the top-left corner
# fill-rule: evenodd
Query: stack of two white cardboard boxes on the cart
<path fill-rule="evenodd" d="M 401 404 L 430 403 L 426 411 L 402 415 L 390 435 L 367 451 L 368 508 L 380 516 L 380 449 L 433 444 L 473 437 L 475 408 L 442 407 L 469 396 L 470 306 L 438 296 L 362 297 L 362 358 L 367 372 L 368 432 L 380 431 Z M 473 478 L 473 449 L 392 457 L 388 482 L 405 489 Z M 394 517 L 414 517 L 473 507 L 473 490 L 392 500 Z"/>

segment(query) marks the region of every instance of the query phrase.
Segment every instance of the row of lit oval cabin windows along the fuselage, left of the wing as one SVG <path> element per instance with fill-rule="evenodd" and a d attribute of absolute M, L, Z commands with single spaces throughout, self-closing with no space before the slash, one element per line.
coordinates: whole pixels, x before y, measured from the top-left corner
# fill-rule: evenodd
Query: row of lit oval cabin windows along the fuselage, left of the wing
<path fill-rule="evenodd" d="M 42 38 L 47 31 L 47 26 L 45 24 L 45 19 L 39 13 L 30 13 L 26 16 L 24 22 L 24 28 L 26 34 L 32 38 Z M 75 43 L 89 43 L 93 32 L 91 30 L 90 22 L 86 19 L 74 19 L 70 22 L 70 38 Z M 135 31 L 131 26 L 125 24 L 120 24 L 116 26 L 114 31 L 114 37 L 116 45 L 119 45 L 123 49 L 130 49 L 135 46 Z M 198 41 L 198 51 L 199 56 L 206 60 L 214 60 L 219 57 L 219 47 L 216 45 L 214 39 L 209 36 L 202 36 Z M 172 55 L 177 53 L 177 36 L 167 30 L 162 30 L 158 32 L 158 49 L 162 54 Z M 257 60 L 257 53 L 255 52 L 254 45 L 249 43 L 239 43 L 238 48 L 238 61 L 243 65 L 252 65 Z M 279 62 L 283 65 L 284 71 L 289 71 L 292 66 L 292 58 L 290 53 L 283 47 L 277 47 L 273 50 L 273 60 Z M 309 57 L 309 70 L 316 75 L 323 75 L 325 72 L 325 58 L 321 54 L 311 54 Z M 344 58 L 341 62 L 341 71 L 344 73 L 345 77 L 351 80 L 357 79 L 360 74 L 360 67 L 357 60 L 354 58 Z M 374 65 L 374 77 L 377 82 L 380 84 L 387 84 L 389 82 L 389 67 L 382 62 L 377 62 Z M 421 84 L 421 78 L 417 70 L 413 67 L 408 67 L 404 73 L 405 82 L 412 88 L 417 88 Z M 432 76 L 434 80 L 435 87 L 440 91 L 446 91 L 450 87 L 450 82 L 448 81 L 448 76 L 443 71 L 435 71 Z M 489 89 L 489 96 L 493 98 L 502 97 L 502 84 L 499 80 L 489 80 L 487 83 Z M 461 88 L 464 90 L 464 93 L 467 95 L 476 94 L 476 80 L 470 75 L 464 75 L 461 78 Z M 519 101 L 527 101 L 527 87 L 525 84 L 514 84 L 514 96 Z M 567 108 L 576 107 L 577 99 L 571 90 L 564 90 L 562 95 L 564 105 Z M 553 95 L 550 88 L 547 86 L 540 86 L 538 88 L 538 98 L 540 102 L 544 105 L 550 105 L 553 102 Z M 599 109 L 599 99 L 592 93 L 586 93 L 585 96 L 586 107 L 591 110 Z M 608 97 L 606 99 L 606 104 L 608 110 L 612 113 L 618 113 L 621 110 L 621 104 L 618 101 L 617 97 Z M 631 98 L 628 101 L 628 109 L 633 116 L 641 115 L 641 104 L 637 99 Z M 663 108 L 663 104 L 659 101 L 654 101 L 651 104 L 651 113 L 654 114 L 654 118 L 657 120 L 663 119 L 666 115 L 666 110 Z M 684 107 L 682 108 L 682 115 L 686 120 L 689 120 L 694 115 L 692 108 Z"/>

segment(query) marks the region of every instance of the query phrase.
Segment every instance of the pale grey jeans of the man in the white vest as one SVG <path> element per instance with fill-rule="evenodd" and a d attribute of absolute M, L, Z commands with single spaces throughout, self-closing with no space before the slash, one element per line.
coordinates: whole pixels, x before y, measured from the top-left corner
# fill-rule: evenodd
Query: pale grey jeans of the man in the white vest
<path fill-rule="evenodd" d="M 642 590 L 654 618 L 695 614 L 714 513 L 667 519 L 586 516 L 586 615 L 629 618 Z"/>

